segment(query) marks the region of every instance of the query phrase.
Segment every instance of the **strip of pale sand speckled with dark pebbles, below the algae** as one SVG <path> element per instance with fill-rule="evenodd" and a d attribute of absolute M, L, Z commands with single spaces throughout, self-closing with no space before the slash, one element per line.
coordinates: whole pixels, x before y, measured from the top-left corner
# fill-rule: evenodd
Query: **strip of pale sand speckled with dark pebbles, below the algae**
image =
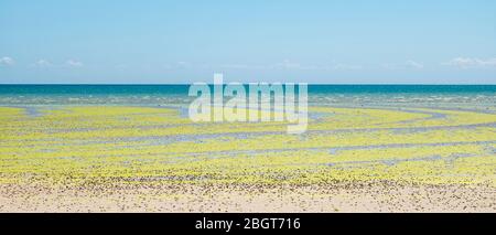
<path fill-rule="evenodd" d="M 0 212 L 496 212 L 488 185 L 337 182 L 320 185 L 155 184 L 90 190 L 0 185 Z"/>

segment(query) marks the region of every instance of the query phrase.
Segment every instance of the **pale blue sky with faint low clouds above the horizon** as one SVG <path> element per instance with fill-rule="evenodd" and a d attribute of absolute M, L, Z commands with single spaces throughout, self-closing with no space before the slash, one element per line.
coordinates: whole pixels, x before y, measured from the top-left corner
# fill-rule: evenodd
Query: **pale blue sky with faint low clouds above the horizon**
<path fill-rule="evenodd" d="M 496 84 L 496 1 L 0 0 L 0 83 Z"/>

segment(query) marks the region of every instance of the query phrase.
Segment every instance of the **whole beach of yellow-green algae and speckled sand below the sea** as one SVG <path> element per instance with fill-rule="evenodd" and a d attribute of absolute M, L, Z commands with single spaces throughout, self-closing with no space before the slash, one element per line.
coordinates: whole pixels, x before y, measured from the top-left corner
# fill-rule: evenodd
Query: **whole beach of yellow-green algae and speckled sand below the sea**
<path fill-rule="evenodd" d="M 3 94 L 0 211 L 494 212 L 495 94 L 311 94 L 302 135 L 176 96 Z"/>

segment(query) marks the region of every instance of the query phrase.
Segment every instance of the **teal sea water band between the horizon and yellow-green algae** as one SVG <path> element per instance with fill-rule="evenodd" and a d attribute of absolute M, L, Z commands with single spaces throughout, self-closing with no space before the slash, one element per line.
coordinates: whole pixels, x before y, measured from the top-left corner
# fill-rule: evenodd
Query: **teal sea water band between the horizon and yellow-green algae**
<path fill-rule="evenodd" d="M 190 85 L 0 85 L 0 105 L 186 105 Z M 309 85 L 310 105 L 484 106 L 496 85 Z"/>

